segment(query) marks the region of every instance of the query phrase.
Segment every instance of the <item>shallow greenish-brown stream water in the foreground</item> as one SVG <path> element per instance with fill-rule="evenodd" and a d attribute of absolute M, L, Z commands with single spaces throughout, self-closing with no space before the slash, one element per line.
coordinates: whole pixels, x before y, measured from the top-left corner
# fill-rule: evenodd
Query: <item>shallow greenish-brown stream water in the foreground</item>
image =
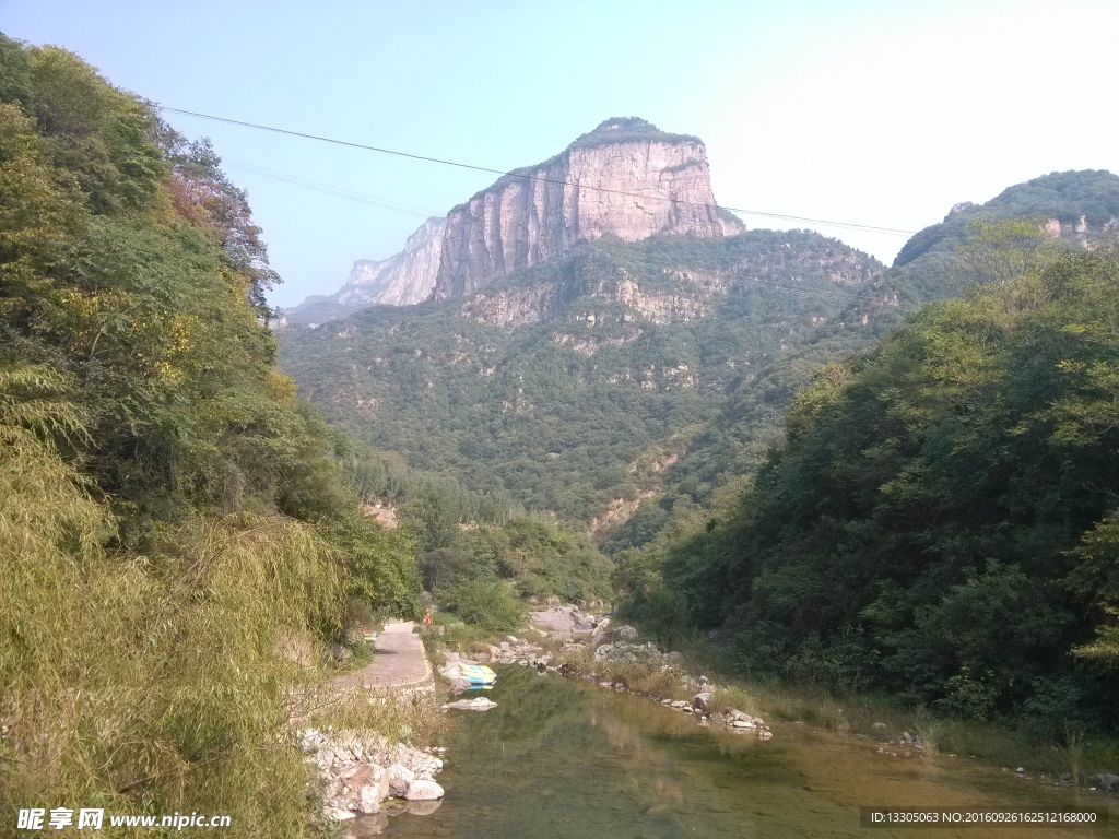
<path fill-rule="evenodd" d="M 1119 836 L 1100 829 L 864 829 L 859 807 L 1103 807 L 962 758 L 892 757 L 878 744 L 774 725 L 773 738 L 697 725 L 648 699 L 528 668 L 501 670 L 498 707 L 458 715 L 446 798 L 373 817 L 355 836 L 457 839 Z M 895 750 L 899 751 L 900 750 Z M 1113 808 L 1115 810 L 1115 808 Z M 1117 820 L 1112 812 L 1112 820 Z M 359 820 L 360 821 L 360 820 Z"/>

